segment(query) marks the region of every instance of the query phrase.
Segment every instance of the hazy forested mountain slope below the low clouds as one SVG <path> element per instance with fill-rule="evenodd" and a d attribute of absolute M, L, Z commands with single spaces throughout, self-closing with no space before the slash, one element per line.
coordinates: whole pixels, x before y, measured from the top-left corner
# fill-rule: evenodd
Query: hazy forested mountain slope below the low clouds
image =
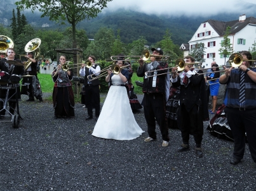
<path fill-rule="evenodd" d="M 16 6 L 13 2 L 15 0 L 3 1 L 0 0 L 0 23 L 4 26 L 10 26 L 12 10 Z M 44 29 L 55 29 L 68 27 L 67 25 L 59 25 L 58 23 L 51 22 L 48 17 L 41 18 L 41 13 L 32 13 L 30 10 L 21 12 L 27 18 L 27 21 L 37 30 Z M 165 30 L 170 29 L 172 33 L 172 40 L 174 44 L 181 45 L 187 43 L 194 32 L 198 29 L 199 25 L 206 20 L 221 20 L 231 21 L 238 20 L 239 13 L 222 13 L 215 16 L 154 16 L 147 15 L 145 13 L 138 13 L 135 11 L 127 11 L 124 9 L 118 9 L 114 12 L 106 12 L 98 14 L 97 18 L 91 20 L 84 20 L 77 24 L 77 28 L 83 28 L 86 30 L 88 38 L 93 39 L 97 30 L 101 27 L 112 28 L 114 33 L 120 30 L 121 40 L 125 43 L 130 43 L 133 40 L 137 40 L 140 36 L 144 36 L 149 44 L 154 44 L 159 40 L 163 39 Z M 256 18 L 256 13 L 252 15 Z"/>

